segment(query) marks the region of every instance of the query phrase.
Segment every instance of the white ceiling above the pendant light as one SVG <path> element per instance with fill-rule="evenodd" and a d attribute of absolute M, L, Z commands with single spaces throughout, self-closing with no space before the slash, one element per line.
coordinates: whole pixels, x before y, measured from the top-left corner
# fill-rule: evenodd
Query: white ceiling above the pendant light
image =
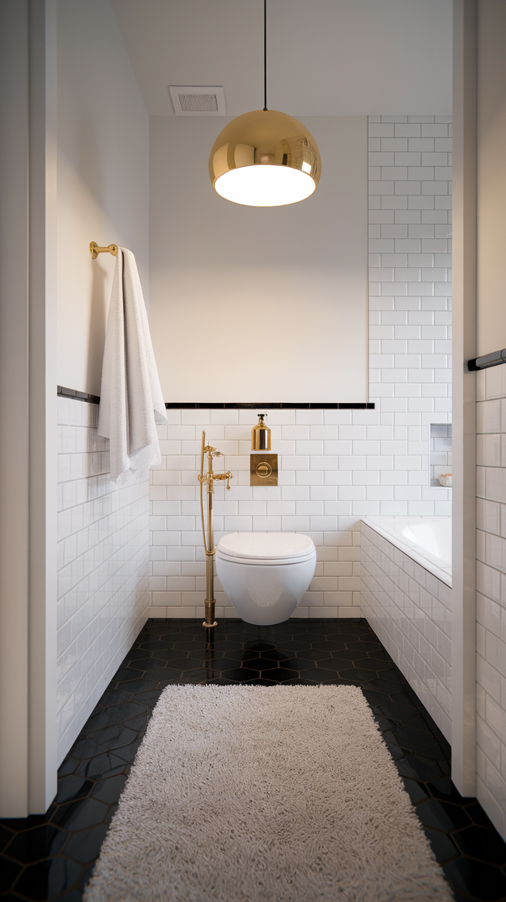
<path fill-rule="evenodd" d="M 151 115 L 169 85 L 222 85 L 227 115 L 263 106 L 262 0 L 112 0 Z M 291 115 L 452 108 L 452 0 L 267 0 L 268 106 Z"/>

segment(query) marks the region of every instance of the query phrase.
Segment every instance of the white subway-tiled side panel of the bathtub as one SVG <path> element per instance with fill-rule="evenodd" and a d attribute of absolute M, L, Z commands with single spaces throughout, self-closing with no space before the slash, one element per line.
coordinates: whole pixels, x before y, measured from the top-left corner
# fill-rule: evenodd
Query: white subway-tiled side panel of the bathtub
<path fill-rule="evenodd" d="M 362 523 L 362 612 L 451 741 L 452 590 Z"/>

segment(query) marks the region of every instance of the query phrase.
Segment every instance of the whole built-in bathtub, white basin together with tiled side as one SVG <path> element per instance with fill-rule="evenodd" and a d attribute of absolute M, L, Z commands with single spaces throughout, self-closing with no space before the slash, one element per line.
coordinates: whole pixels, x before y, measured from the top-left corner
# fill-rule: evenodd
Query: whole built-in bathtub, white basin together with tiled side
<path fill-rule="evenodd" d="M 367 517 L 360 533 L 362 616 L 451 743 L 451 517 Z"/>

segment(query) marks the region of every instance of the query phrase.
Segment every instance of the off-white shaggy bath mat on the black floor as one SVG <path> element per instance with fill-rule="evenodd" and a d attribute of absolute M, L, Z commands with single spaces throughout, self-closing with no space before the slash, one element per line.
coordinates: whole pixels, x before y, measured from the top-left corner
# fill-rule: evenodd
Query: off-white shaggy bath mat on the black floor
<path fill-rule="evenodd" d="M 355 686 L 168 686 L 84 895 L 452 899 Z"/>

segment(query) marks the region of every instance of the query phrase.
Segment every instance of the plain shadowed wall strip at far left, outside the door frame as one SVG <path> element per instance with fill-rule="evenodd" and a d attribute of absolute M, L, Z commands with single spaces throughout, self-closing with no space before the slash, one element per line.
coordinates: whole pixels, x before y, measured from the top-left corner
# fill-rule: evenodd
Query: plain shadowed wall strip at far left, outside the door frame
<path fill-rule="evenodd" d="M 0 815 L 29 811 L 28 5 L 0 9 Z M 14 669 L 18 689 L 11 691 Z M 8 725 L 8 729 L 7 729 Z"/>

